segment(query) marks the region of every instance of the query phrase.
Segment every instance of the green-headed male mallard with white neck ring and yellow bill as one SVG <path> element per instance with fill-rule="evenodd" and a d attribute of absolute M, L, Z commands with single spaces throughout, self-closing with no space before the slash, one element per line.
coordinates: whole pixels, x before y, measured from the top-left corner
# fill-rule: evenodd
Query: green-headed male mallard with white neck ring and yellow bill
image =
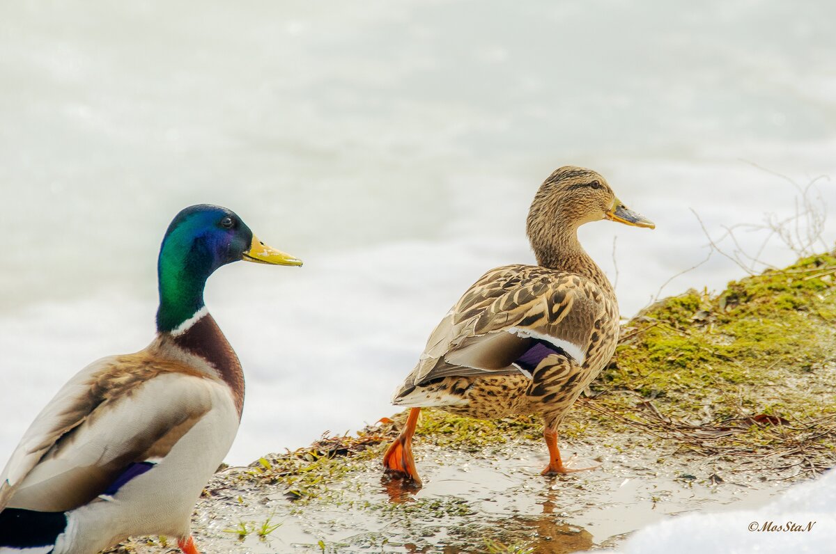
<path fill-rule="evenodd" d="M 203 287 L 237 260 L 302 265 L 226 208 L 191 206 L 171 221 L 154 340 L 82 369 L 23 435 L 0 474 L 0 552 L 92 554 L 131 535 L 166 535 L 196 554 L 191 512 L 244 403 L 241 363 Z"/>

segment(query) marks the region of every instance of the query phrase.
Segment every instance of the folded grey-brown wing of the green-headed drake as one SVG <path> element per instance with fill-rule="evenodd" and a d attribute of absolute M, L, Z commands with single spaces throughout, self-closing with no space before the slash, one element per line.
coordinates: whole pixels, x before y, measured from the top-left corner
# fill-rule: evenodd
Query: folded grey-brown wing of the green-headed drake
<path fill-rule="evenodd" d="M 80 506 L 130 463 L 166 455 L 212 408 L 208 387 L 222 384 L 131 356 L 85 368 L 38 415 L 3 471 L 0 509 Z"/>

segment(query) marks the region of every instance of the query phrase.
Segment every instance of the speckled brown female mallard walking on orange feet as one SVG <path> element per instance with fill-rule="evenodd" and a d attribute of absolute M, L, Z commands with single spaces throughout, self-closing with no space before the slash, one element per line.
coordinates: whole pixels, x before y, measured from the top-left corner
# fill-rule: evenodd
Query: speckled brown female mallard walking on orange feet
<path fill-rule="evenodd" d="M 654 227 L 592 170 L 561 167 L 543 182 L 528 212 L 538 265 L 492 269 L 438 324 L 393 396 L 393 404 L 415 408 L 386 451 L 387 470 L 421 484 L 411 450 L 419 406 L 441 406 L 482 419 L 542 414 L 543 475 L 573 471 L 560 459 L 558 425 L 609 362 L 619 335 L 613 287 L 577 235 L 601 219 Z"/>

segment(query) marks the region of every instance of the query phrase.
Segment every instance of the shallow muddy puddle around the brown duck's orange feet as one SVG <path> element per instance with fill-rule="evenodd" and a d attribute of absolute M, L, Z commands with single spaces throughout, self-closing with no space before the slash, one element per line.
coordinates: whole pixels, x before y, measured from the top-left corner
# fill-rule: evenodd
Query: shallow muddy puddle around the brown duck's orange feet
<path fill-rule="evenodd" d="M 614 440 L 624 445 L 624 437 Z M 760 475 L 726 473 L 716 460 L 674 455 L 662 463 L 656 460 L 660 450 L 619 451 L 593 442 L 567 450 L 594 455 L 602 462 L 597 470 L 548 478 L 539 475 L 547 464 L 539 442 L 509 440 L 475 453 L 419 444 L 420 490 L 383 477 L 375 457 L 329 482 L 324 496 L 309 503 L 288 501 L 286 484 L 242 480 L 238 470 L 229 470 L 208 485 L 211 492 L 198 503 L 192 530 L 206 551 L 242 554 L 483 553 L 497 545 L 507 548 L 494 551 L 565 554 L 619 546 L 631 532 L 686 512 L 756 508 L 788 486 L 764 483 Z M 574 466 L 589 463 L 577 460 Z M 688 471 L 699 477 L 683 478 Z M 712 484 L 708 477 L 714 471 L 726 479 Z M 278 527 L 258 536 L 265 522 Z M 246 536 L 239 538 L 236 529 Z"/>

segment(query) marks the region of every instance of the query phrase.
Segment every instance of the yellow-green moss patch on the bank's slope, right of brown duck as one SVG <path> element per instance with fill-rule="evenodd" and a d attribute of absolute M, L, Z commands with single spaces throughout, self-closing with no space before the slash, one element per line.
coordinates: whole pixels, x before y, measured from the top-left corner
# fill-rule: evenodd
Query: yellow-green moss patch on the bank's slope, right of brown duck
<path fill-rule="evenodd" d="M 836 404 L 821 404 L 833 397 L 827 379 L 796 383 L 836 359 L 836 292 L 832 277 L 818 275 L 833 267 L 832 255 L 809 257 L 730 282 L 716 296 L 690 291 L 658 302 L 624 328 L 594 386 L 652 397 L 683 417 L 706 407 L 726 415 L 771 409 L 790 420 L 813 407 L 833 413 Z"/>

